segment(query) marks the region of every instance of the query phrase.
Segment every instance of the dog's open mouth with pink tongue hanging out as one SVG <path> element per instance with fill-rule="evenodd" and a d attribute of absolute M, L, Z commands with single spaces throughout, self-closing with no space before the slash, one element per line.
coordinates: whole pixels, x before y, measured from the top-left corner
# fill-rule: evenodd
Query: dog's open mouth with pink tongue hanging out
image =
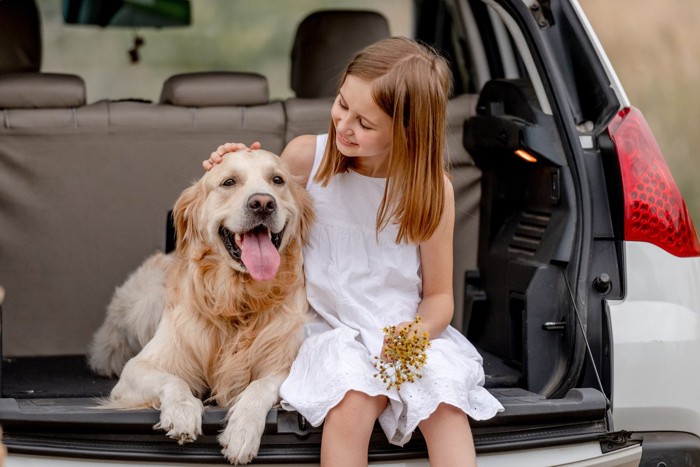
<path fill-rule="evenodd" d="M 231 232 L 223 225 L 219 227 L 219 237 L 228 254 L 257 281 L 270 280 L 277 274 L 283 235 L 284 229 L 272 233 L 262 224 L 243 233 Z"/>

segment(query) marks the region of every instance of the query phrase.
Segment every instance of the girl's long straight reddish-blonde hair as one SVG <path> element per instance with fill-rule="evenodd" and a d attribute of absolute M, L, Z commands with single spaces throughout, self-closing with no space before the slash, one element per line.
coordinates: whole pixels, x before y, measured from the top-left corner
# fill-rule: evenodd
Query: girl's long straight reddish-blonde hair
<path fill-rule="evenodd" d="M 445 132 L 452 75 L 434 50 L 404 37 L 376 42 L 345 69 L 371 81 L 372 97 L 393 122 L 389 175 L 377 211 L 377 232 L 398 224 L 396 242 L 420 243 L 431 237 L 445 206 Z M 331 121 L 323 161 L 314 180 L 327 185 L 352 167 L 335 145 Z"/>

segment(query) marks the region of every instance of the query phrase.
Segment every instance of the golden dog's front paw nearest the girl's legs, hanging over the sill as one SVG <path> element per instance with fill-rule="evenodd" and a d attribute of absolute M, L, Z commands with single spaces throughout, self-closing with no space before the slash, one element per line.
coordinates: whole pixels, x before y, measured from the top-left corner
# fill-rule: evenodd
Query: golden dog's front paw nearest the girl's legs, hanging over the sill
<path fill-rule="evenodd" d="M 234 465 L 247 464 L 258 454 L 265 420 L 237 416 L 235 410 L 224 431 L 219 435 L 221 453 Z"/>

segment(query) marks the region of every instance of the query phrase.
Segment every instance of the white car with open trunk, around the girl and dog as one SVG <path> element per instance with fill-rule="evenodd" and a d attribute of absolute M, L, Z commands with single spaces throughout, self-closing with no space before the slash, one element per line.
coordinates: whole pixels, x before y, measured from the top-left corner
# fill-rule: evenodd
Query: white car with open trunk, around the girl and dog
<path fill-rule="evenodd" d="M 154 410 L 96 409 L 115 380 L 89 371 L 88 343 L 114 288 L 172 249 L 168 211 L 201 161 L 325 132 L 338 70 L 392 34 L 454 75 L 453 324 L 505 407 L 471 421 L 479 465 L 700 465 L 700 241 L 576 0 L 116 3 L 0 1 L 6 466 L 225 463 L 222 408 L 184 446 Z M 252 55 L 291 62 L 226 61 Z M 254 463 L 316 465 L 320 433 L 275 408 Z M 399 448 L 379 430 L 369 461 L 428 465 L 420 433 Z"/>

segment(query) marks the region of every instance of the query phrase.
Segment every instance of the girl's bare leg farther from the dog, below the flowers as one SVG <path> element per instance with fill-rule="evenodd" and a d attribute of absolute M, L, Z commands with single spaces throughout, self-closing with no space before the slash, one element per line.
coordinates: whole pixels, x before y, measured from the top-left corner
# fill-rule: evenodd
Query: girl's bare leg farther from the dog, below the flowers
<path fill-rule="evenodd" d="M 469 419 L 460 409 L 440 404 L 418 427 L 428 445 L 430 467 L 476 467 Z"/>

